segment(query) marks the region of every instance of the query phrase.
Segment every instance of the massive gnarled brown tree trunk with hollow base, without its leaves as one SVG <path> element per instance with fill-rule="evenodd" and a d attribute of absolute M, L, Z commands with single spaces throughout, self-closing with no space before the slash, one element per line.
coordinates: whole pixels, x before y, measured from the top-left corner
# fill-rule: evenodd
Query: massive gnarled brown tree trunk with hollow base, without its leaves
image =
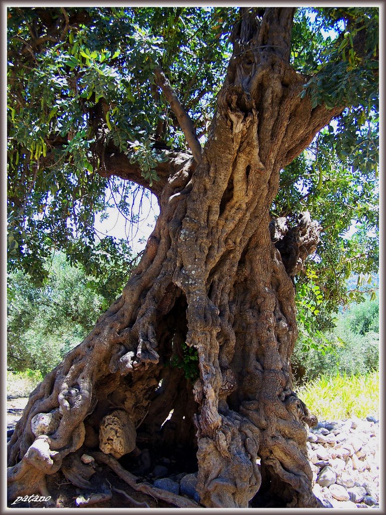
<path fill-rule="evenodd" d="M 320 227 L 305 213 L 289 228 L 269 209 L 280 169 L 342 109 L 300 99 L 305 78 L 289 64 L 294 9 L 259 13 L 242 10 L 235 27 L 201 159 L 172 154 L 168 173 L 162 165 L 161 213 L 121 297 L 32 392 L 8 444 L 10 500 L 45 492 L 46 474 L 68 468 L 68 456 L 99 446 L 120 456 L 136 435 L 136 455 L 177 444 L 197 454 L 205 507 L 320 505 L 306 449 L 305 423 L 315 420 L 290 365 L 292 278 Z M 132 179 L 125 159 L 106 152 L 101 173 Z M 172 366 L 184 342 L 198 353 L 194 383 Z M 41 413 L 49 424 L 36 435 Z M 125 444 L 99 431 L 116 419 L 122 434 L 125 417 Z M 81 485 L 79 470 L 70 476 Z"/>

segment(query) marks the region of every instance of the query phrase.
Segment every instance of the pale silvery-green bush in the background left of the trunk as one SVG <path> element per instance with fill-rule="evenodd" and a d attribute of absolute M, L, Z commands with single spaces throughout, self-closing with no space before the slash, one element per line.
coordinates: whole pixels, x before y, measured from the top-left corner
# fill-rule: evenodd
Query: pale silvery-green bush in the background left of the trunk
<path fill-rule="evenodd" d="M 44 286 L 21 271 L 8 277 L 7 366 L 9 370 L 54 368 L 79 344 L 101 314 L 104 299 L 85 273 L 63 254 L 46 263 Z"/>

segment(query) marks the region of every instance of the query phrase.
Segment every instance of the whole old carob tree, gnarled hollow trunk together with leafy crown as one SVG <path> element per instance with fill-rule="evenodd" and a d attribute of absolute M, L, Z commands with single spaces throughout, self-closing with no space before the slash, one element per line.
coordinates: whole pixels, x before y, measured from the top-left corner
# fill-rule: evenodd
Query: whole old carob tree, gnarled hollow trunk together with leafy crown
<path fill-rule="evenodd" d="M 24 23 L 20 12 L 27 11 Z M 335 39 L 329 40 L 332 73 L 333 64 L 338 67 L 341 62 L 345 70 L 350 63 L 355 72 L 369 53 L 369 15 L 360 9 L 353 8 L 351 14 L 346 11 L 325 9 L 323 13 L 331 25 L 337 22 Z M 164 22 L 167 15 L 168 26 Z M 52 59 L 62 59 L 62 102 L 68 102 L 68 116 L 72 123 L 76 118 L 80 127 L 66 127 L 65 113 L 60 114 L 61 103 L 52 100 L 54 97 L 35 97 L 33 109 L 41 118 L 44 111 L 46 118 L 36 130 L 31 150 L 28 134 L 22 134 L 21 108 L 17 100 L 11 105 L 9 130 L 13 130 L 15 141 L 19 138 L 20 145 L 10 150 L 11 169 L 16 169 L 12 152 L 19 149 L 17 160 L 24 160 L 22 179 L 30 174 L 25 196 L 38 191 L 43 180 L 39 179 L 40 170 L 48 170 L 44 179 L 48 181 L 52 178 L 49 171 L 62 166 L 67 184 L 60 182 L 56 171 L 52 181 L 57 190 L 47 187 L 51 197 L 46 199 L 44 209 L 51 206 L 55 212 L 55 197 L 64 202 L 63 192 L 67 190 L 75 199 L 76 209 L 83 209 L 79 200 L 91 209 L 88 197 L 77 197 L 81 188 L 93 181 L 106 184 L 114 176 L 149 188 L 160 205 L 141 262 L 121 296 L 84 341 L 32 392 L 8 444 L 10 501 L 37 491 L 44 494 L 46 476 L 59 470 L 75 485 L 89 486 L 90 465 L 80 461 L 83 453 L 122 474 L 117 461 L 121 456 L 140 458 L 145 448 L 161 447 L 167 452 L 182 444 L 187 455 L 197 455 L 197 491 L 202 506 L 320 505 L 312 493 L 306 448 L 307 424 L 313 425 L 315 419 L 292 389 L 290 360 L 297 338 L 294 278 L 317 248 L 322 227 L 305 210 L 299 213 L 297 222 L 288 222 L 283 216 L 272 218 L 270 210 L 278 192 L 280 170 L 290 165 L 331 119 L 341 116 L 348 105 L 355 105 L 355 99 L 340 85 L 334 101 L 328 90 L 332 81 L 328 66 L 320 66 L 319 76 L 315 71 L 307 75 L 295 69 L 291 41 L 299 48 L 301 25 L 298 23 L 294 30 L 294 15 L 295 9 L 290 7 L 10 11 L 10 48 L 16 45 L 21 59 L 41 73 L 36 84 L 25 87 L 25 98 L 19 96 L 20 106 L 36 95 L 39 87 L 43 91 L 43 83 L 49 83 L 49 71 L 42 66 L 52 51 Z M 12 32 L 11 23 L 18 16 L 15 26 L 24 32 Z M 116 35 L 134 30 L 134 22 L 128 21 L 130 16 L 132 20 L 137 16 L 135 23 L 142 20 L 145 27 L 136 32 L 135 41 L 130 36 L 134 38 L 131 61 L 128 57 L 126 67 L 114 71 L 103 68 L 103 61 L 114 57 L 107 55 L 103 45 L 113 46 Z M 201 146 L 200 124 L 203 127 L 208 121 L 195 123 L 195 116 L 200 106 L 197 102 L 204 95 L 196 98 L 196 104 L 190 100 L 193 107 L 188 107 L 189 83 L 195 87 L 195 75 L 184 78 L 183 98 L 184 92 L 177 94 L 173 74 L 166 65 L 173 52 L 182 49 L 187 56 L 191 54 L 191 37 L 180 46 L 176 43 L 183 38 L 183 27 L 191 22 L 202 24 L 206 30 L 204 25 L 213 24 L 213 16 L 217 16 L 219 26 L 224 24 L 224 32 L 233 16 L 230 40 L 226 42 L 232 44 L 233 53 Z M 98 43 L 92 35 L 97 23 L 102 22 L 106 41 Z M 45 28 L 39 33 L 39 27 Z M 154 50 L 162 45 L 161 37 L 154 36 L 157 30 L 165 40 L 169 38 L 169 48 L 159 55 Z M 343 32 L 350 33 L 351 39 L 353 34 L 354 41 L 348 42 Z M 213 33 L 210 52 L 216 52 L 216 42 L 225 44 L 221 38 Z M 344 61 L 346 45 L 342 41 L 346 40 L 352 52 Z M 151 44 L 145 48 L 146 41 Z M 140 48 L 145 51 L 141 53 Z M 205 48 L 209 52 L 208 45 Z M 375 59 L 375 52 L 371 55 Z M 130 62 L 133 66 L 140 58 L 141 63 L 131 70 Z M 210 61 L 210 54 L 205 59 Z M 202 72 L 199 60 L 198 64 L 196 78 Z M 102 92 L 95 70 L 104 70 L 104 75 L 100 72 L 105 81 Z M 11 93 L 18 73 L 17 64 L 12 64 Z M 158 109 L 153 144 L 146 147 L 143 140 L 130 143 L 129 137 L 121 144 L 119 127 L 127 123 L 129 115 L 125 118 L 124 110 L 119 110 L 119 99 L 109 99 L 109 94 L 111 98 L 120 94 L 110 86 L 114 81 L 120 81 L 120 85 L 127 81 L 126 97 L 121 98 L 125 104 L 130 95 L 141 98 L 141 88 L 130 90 L 129 81 L 139 84 L 138 77 L 144 74 L 146 80 L 150 77 L 146 88 Z M 369 76 L 363 78 L 363 91 L 369 88 L 369 81 L 375 81 L 374 67 Z M 217 70 L 208 80 L 214 83 L 220 77 Z M 182 83 L 181 75 L 178 80 Z M 318 80 L 324 81 L 325 97 Z M 353 95 L 358 98 L 360 86 L 356 87 Z M 54 91 L 56 84 L 52 88 Z M 135 102 L 130 101 L 133 126 L 140 125 L 137 120 L 141 113 L 134 111 Z M 71 111 L 75 104 L 79 108 L 77 116 Z M 161 144 L 166 141 L 171 122 L 182 130 L 190 151 L 167 150 Z M 39 131 L 43 129 L 46 132 L 41 136 Z M 135 130 L 132 128 L 132 134 Z M 173 130 L 176 135 L 178 129 Z M 165 150 L 160 153 L 162 147 Z M 151 165 L 146 161 L 150 158 Z M 66 166 L 70 171 L 65 171 Z M 89 171 L 94 173 L 84 172 L 82 176 L 84 167 L 91 167 Z M 9 199 L 13 213 L 21 212 L 25 220 L 28 202 L 23 205 L 18 201 L 15 191 L 9 192 Z M 102 201 L 98 197 L 98 202 Z M 82 219 L 79 216 L 80 226 Z M 30 217 L 24 231 L 38 224 L 37 220 L 44 217 Z M 67 231 L 68 224 L 63 228 Z M 49 227 L 43 229 L 48 240 L 54 238 Z M 61 244 L 68 238 L 63 234 Z M 28 242 L 21 242 L 20 248 L 23 245 L 26 259 Z M 12 249 L 17 253 L 17 248 Z M 28 255 L 32 263 L 32 254 Z M 172 363 L 188 352 L 191 356 L 197 353 L 197 361 L 192 360 L 197 364 L 197 374 L 187 379 L 184 368 Z M 138 487 L 134 480 L 132 486 Z M 193 501 L 149 485 L 141 488 L 177 506 L 196 506 Z"/>

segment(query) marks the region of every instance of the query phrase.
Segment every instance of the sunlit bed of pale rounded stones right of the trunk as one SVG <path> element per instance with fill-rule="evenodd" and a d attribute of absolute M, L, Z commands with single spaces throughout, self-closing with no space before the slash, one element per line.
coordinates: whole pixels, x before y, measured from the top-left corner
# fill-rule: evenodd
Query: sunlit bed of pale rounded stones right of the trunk
<path fill-rule="evenodd" d="M 307 449 L 313 493 L 329 508 L 379 506 L 379 420 L 318 422 Z M 334 443 L 333 443 L 334 440 Z"/>

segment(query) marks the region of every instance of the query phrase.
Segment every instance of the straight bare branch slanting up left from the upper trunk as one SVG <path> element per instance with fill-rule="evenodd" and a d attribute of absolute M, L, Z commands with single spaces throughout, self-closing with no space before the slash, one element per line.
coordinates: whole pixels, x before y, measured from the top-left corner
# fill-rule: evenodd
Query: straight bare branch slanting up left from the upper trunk
<path fill-rule="evenodd" d="M 198 141 L 197 134 L 190 116 L 183 108 L 180 100 L 178 99 L 176 93 L 174 92 L 160 67 L 155 68 L 154 76 L 156 84 L 159 85 L 159 87 L 162 89 L 162 92 L 169 102 L 171 109 L 177 116 L 178 123 L 180 124 L 180 127 L 185 134 L 186 141 L 190 147 L 190 150 L 192 151 L 193 157 L 197 163 L 199 163 L 202 155 L 202 147 Z"/>

